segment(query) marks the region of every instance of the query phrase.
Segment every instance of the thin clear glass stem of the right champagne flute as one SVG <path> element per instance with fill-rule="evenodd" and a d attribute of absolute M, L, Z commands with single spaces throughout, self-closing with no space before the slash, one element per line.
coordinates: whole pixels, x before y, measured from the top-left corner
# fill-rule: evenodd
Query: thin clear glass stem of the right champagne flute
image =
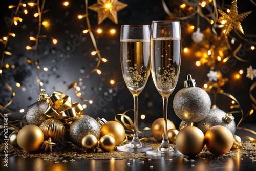
<path fill-rule="evenodd" d="M 163 96 L 163 118 L 164 118 L 164 130 L 163 130 L 163 141 L 162 141 L 162 147 L 164 148 L 169 148 L 170 147 L 170 143 L 168 140 L 168 135 L 167 135 L 167 106 L 168 106 L 168 97 Z"/>

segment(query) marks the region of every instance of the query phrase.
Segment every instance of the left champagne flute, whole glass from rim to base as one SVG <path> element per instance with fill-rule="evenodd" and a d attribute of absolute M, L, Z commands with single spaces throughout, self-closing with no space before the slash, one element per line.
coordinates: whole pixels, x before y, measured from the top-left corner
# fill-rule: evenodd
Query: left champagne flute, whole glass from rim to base
<path fill-rule="evenodd" d="M 134 99 L 134 134 L 130 143 L 118 146 L 122 152 L 152 149 L 138 137 L 138 96 L 150 75 L 150 25 L 121 25 L 120 53 L 123 78 Z"/>

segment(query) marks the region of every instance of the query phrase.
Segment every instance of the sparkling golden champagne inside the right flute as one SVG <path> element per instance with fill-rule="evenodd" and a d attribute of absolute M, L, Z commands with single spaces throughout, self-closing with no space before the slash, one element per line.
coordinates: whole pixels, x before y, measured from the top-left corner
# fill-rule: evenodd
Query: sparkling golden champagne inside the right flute
<path fill-rule="evenodd" d="M 180 72 L 181 39 L 172 37 L 151 39 L 152 76 L 158 92 L 170 95 Z"/>

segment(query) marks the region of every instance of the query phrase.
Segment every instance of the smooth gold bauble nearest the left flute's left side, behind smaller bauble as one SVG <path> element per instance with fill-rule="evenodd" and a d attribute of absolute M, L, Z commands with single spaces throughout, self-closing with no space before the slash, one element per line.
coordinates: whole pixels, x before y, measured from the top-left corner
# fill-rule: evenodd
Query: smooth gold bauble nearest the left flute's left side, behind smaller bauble
<path fill-rule="evenodd" d="M 111 135 L 115 139 L 116 145 L 119 145 L 125 139 L 125 130 L 121 123 L 117 121 L 108 121 L 100 128 L 100 137 L 105 135 Z"/>

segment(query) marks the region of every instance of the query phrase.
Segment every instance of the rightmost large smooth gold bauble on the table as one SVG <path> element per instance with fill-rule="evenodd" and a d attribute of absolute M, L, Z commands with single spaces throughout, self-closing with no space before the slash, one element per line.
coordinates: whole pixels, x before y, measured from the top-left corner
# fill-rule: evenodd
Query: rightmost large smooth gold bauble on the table
<path fill-rule="evenodd" d="M 205 133 L 205 145 L 212 154 L 227 153 L 233 146 L 233 134 L 225 126 L 212 126 Z"/>

